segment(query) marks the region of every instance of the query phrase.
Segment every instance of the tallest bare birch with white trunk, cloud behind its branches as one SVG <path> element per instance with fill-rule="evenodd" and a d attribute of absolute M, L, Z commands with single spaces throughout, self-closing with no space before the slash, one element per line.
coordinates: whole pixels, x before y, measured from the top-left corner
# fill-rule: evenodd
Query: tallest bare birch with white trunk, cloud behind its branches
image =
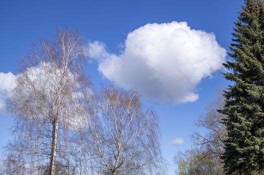
<path fill-rule="evenodd" d="M 85 120 L 89 82 L 82 69 L 84 55 L 83 39 L 65 28 L 58 29 L 57 40 L 41 41 L 40 49 L 25 59 L 10 99 L 17 122 L 9 148 L 25 156 L 27 167 L 48 163 L 54 175 L 58 152 L 76 147 L 68 138 Z"/>

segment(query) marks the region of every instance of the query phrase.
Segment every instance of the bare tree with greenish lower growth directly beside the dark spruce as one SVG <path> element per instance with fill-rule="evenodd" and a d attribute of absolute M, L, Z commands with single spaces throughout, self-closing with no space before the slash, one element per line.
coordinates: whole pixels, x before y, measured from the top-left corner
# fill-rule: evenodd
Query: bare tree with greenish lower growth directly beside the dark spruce
<path fill-rule="evenodd" d="M 218 112 L 224 105 L 224 97 L 218 91 L 215 101 L 205 107 L 205 114 L 198 118 L 197 126 L 204 133 L 192 135 L 195 148 L 179 152 L 174 161 L 178 166 L 177 174 L 215 174 L 223 175 L 224 168 L 221 156 L 224 152 L 226 128 L 223 124 L 225 115 Z"/>

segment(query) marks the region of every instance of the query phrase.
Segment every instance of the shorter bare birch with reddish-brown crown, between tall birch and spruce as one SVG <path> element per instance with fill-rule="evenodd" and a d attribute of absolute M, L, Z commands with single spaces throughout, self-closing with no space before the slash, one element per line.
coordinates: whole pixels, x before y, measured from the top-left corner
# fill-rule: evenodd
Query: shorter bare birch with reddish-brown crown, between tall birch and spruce
<path fill-rule="evenodd" d="M 104 88 L 90 106 L 91 167 L 100 174 L 162 171 L 156 113 L 136 91 Z"/>

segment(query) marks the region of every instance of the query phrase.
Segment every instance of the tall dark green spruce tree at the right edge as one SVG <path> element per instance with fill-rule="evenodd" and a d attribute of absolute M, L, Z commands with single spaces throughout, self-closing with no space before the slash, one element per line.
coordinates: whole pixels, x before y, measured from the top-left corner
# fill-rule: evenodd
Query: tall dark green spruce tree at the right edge
<path fill-rule="evenodd" d="M 261 174 L 264 169 L 264 3 L 245 0 L 224 63 L 233 82 L 224 91 L 227 118 L 223 155 L 227 174 Z"/>

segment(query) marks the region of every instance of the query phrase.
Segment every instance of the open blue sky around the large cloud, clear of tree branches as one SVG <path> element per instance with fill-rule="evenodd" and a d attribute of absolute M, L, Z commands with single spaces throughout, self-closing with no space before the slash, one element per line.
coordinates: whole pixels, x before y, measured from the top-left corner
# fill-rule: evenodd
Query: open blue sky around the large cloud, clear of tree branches
<path fill-rule="evenodd" d="M 172 21 L 185 21 L 191 29 L 213 32 L 218 44 L 228 50 L 233 21 L 242 4 L 243 0 L 2 0 L 0 72 L 16 74 L 21 56 L 31 51 L 32 43 L 42 38 L 54 39 L 56 27 L 65 25 L 78 28 L 80 35 L 90 43 L 100 41 L 107 53 L 119 58 L 123 58 L 119 52 L 120 44 L 125 45 L 129 32 L 148 23 Z M 206 48 L 208 46 L 205 45 Z M 91 60 L 85 68 L 97 89 L 109 79 L 122 85 L 107 76 L 105 71 L 98 71 L 100 62 L 97 59 Z M 179 68 L 177 66 L 175 69 Z M 190 134 L 198 129 L 194 125 L 197 117 L 203 113 L 205 105 L 216 98 L 216 89 L 230 83 L 222 77 L 221 71 L 223 69 L 217 68 L 210 72 L 210 77 L 202 77 L 195 83 L 193 91 L 199 94 L 199 98 L 194 102 L 174 104 L 171 100 L 153 100 L 150 96 L 144 99 L 145 105 L 153 106 L 159 115 L 162 150 L 168 163 L 173 162 L 178 151 L 191 147 Z M 181 84 L 180 81 L 178 83 Z M 179 84 L 176 87 L 181 88 Z M 0 146 L 11 138 L 8 128 L 12 122 L 13 118 L 3 112 L 0 114 Z M 177 137 L 184 140 L 183 144 L 169 144 Z M 170 174 L 174 169 L 175 165 L 169 167 Z"/>

